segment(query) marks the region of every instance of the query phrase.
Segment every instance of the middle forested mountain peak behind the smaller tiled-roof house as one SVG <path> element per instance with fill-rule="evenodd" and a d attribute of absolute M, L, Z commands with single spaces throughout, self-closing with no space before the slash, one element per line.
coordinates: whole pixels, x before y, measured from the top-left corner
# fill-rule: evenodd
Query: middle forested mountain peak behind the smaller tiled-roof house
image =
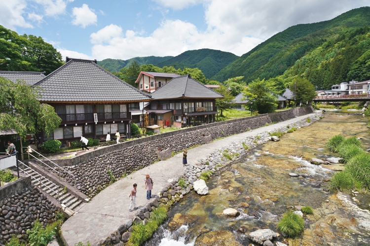
<path fill-rule="evenodd" d="M 220 50 L 200 49 L 188 50 L 165 62 L 153 64 L 155 66 L 173 66 L 176 69 L 199 68 L 206 78 L 211 78 L 230 62 L 235 61 L 238 56 Z"/>

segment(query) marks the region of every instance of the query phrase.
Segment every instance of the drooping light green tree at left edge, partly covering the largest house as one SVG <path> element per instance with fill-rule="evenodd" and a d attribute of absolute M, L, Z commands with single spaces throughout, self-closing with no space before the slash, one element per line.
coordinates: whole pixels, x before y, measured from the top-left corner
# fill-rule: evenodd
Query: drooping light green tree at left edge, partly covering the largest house
<path fill-rule="evenodd" d="M 49 135 L 62 121 L 52 106 L 40 104 L 38 87 L 0 77 L 0 129 L 15 129 L 22 138 L 44 131 Z"/>

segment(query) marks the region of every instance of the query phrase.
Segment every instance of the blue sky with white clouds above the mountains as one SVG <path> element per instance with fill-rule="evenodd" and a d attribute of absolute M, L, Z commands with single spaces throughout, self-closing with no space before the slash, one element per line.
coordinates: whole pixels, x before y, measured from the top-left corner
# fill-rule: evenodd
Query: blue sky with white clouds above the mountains
<path fill-rule="evenodd" d="M 370 0 L 0 0 L 0 25 L 63 57 L 102 61 L 203 48 L 241 56 L 274 34 Z"/>

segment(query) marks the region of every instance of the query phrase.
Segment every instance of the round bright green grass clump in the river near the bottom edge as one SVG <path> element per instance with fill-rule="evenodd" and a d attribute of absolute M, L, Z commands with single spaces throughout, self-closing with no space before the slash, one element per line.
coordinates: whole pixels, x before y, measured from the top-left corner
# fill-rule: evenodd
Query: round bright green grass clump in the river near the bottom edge
<path fill-rule="evenodd" d="M 294 238 L 303 231 L 304 221 L 301 216 L 287 212 L 280 219 L 278 228 L 284 236 Z"/>

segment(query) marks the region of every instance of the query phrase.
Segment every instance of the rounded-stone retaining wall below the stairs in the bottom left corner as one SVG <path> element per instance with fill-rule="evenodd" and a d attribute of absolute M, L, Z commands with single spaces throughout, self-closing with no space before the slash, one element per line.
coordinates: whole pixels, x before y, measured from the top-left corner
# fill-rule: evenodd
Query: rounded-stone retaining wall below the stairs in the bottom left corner
<path fill-rule="evenodd" d="M 27 230 L 37 219 L 42 225 L 55 221 L 56 206 L 31 184 L 30 176 L 0 187 L 0 199 L 0 245 L 12 234 L 28 239 Z"/>

